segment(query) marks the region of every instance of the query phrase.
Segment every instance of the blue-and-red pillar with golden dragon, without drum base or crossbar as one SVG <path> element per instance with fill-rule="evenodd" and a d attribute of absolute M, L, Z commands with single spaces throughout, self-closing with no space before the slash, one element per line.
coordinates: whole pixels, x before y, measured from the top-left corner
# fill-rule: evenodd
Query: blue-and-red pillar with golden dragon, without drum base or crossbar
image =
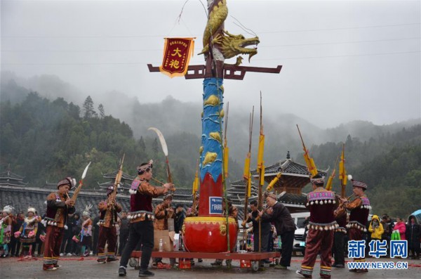
<path fill-rule="evenodd" d="M 208 22 L 203 32 L 201 53 L 206 60 L 203 81 L 203 114 L 201 135 L 201 188 L 199 215 L 222 214 L 214 197 L 222 197 L 222 119 L 224 105 L 223 69 L 225 59 L 239 54 L 248 54 L 249 60 L 257 53 L 257 48 L 246 48 L 258 44 L 258 37 L 246 39 L 243 35 L 233 35 L 224 30 L 228 15 L 226 0 L 208 1 Z M 239 59 L 240 61 L 242 60 Z M 212 183 L 210 183 L 212 182 Z M 215 185 L 211 185 L 215 184 Z"/>

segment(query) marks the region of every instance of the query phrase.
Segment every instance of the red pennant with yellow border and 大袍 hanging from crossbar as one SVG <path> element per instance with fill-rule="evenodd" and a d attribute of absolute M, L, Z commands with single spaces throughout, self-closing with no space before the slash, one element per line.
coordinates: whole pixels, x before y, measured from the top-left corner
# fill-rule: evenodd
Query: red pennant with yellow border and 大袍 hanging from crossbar
<path fill-rule="evenodd" d="M 184 76 L 194 50 L 194 38 L 165 38 L 159 70 L 169 77 Z"/>

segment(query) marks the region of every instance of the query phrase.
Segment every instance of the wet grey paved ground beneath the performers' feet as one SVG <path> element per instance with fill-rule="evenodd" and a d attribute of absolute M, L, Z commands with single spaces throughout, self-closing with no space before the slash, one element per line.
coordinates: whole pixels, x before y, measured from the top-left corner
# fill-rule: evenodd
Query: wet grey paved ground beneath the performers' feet
<path fill-rule="evenodd" d="M 95 257 L 62 257 L 59 261 L 61 267 L 57 271 L 42 271 L 42 258 L 32 261 L 18 261 L 18 258 L 0 259 L 1 278 L 122 278 L 117 274 L 119 262 L 109 264 L 98 264 Z M 83 259 L 83 260 L 81 260 Z M 368 259 L 373 261 L 374 259 Z M 382 261 L 402 261 L 397 259 L 381 259 Z M 168 259 L 164 259 L 168 262 Z M 300 268 L 302 257 L 293 257 L 291 267 L 286 271 L 276 270 L 273 267 L 264 268 L 258 273 L 252 273 L 250 268 L 240 268 L 239 261 L 233 261 L 233 267 L 214 268 L 210 266 L 213 260 L 203 260 L 197 263 L 190 270 L 178 269 L 156 269 L 151 268 L 155 273 L 154 278 L 300 278 L 295 271 Z M 351 273 L 348 268 L 333 268 L 332 278 L 420 278 L 421 261 L 404 260 L 408 262 L 407 270 L 377 270 L 368 273 Z M 125 278 L 138 278 L 138 271 L 128 267 Z M 316 263 L 313 278 L 319 277 L 319 261 Z"/>

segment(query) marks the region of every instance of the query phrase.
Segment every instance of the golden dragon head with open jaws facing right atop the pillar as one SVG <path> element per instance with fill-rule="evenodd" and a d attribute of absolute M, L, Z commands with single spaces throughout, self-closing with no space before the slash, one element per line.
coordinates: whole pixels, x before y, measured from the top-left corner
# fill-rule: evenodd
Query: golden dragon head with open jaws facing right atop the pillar
<path fill-rule="evenodd" d="M 243 35 L 233 35 L 229 32 L 224 32 L 226 36 L 222 38 L 221 51 L 226 59 L 233 58 L 239 54 L 248 54 L 248 61 L 250 58 L 258 53 L 258 48 L 247 48 L 247 46 L 258 45 L 260 43 L 258 37 L 246 39 Z"/>

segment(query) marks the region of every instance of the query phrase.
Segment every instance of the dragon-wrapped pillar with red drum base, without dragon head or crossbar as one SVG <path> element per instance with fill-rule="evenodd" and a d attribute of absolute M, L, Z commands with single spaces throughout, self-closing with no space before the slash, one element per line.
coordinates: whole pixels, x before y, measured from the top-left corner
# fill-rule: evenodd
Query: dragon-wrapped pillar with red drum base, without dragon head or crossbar
<path fill-rule="evenodd" d="M 228 15 L 226 0 L 208 1 L 208 13 L 201 51 L 206 59 L 206 70 L 203 80 L 199 216 L 185 219 L 184 240 L 185 247 L 191 252 L 226 252 L 233 251 L 236 245 L 238 223 L 223 215 L 222 210 L 222 84 L 225 57 L 220 45 L 212 41 L 224 36 L 224 21 Z"/>

